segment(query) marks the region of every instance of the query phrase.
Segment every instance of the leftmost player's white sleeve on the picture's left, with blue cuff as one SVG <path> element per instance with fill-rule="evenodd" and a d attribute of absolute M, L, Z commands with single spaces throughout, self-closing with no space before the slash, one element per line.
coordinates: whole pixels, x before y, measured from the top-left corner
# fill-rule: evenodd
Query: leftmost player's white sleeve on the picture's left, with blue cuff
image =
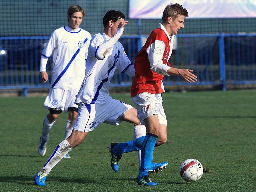
<path fill-rule="evenodd" d="M 41 54 L 40 72 L 46 71 L 48 58 L 52 55 L 52 52 L 54 48 L 57 46 L 57 44 L 57 33 L 56 31 L 53 31 Z"/>

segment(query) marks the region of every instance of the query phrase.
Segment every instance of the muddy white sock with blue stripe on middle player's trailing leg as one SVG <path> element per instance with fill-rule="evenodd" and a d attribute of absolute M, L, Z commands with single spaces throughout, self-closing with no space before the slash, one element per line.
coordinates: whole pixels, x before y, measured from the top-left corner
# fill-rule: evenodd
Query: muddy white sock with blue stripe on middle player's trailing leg
<path fill-rule="evenodd" d="M 53 151 L 52 155 L 44 165 L 42 169 L 45 170 L 45 173 L 48 175 L 52 168 L 60 162 L 60 160 L 72 150 L 71 145 L 67 140 L 63 140 Z"/>

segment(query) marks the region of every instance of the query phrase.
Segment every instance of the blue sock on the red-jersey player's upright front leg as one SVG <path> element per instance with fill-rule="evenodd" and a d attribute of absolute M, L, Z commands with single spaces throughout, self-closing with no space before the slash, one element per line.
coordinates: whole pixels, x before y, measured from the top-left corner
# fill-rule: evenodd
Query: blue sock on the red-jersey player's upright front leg
<path fill-rule="evenodd" d="M 158 136 L 152 133 L 147 133 L 141 145 L 141 161 L 139 178 L 148 175 L 148 170 L 153 159 L 153 151 Z"/>

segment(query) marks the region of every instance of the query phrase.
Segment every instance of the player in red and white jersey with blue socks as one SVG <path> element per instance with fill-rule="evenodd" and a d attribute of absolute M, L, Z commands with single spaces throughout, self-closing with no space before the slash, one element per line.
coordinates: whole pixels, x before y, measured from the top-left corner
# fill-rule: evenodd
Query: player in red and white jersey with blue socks
<path fill-rule="evenodd" d="M 187 82 L 195 83 L 196 76 L 191 69 L 173 68 L 168 60 L 172 54 L 175 34 L 184 28 L 188 11 L 180 4 L 169 4 L 163 12 L 163 23 L 153 30 L 145 45 L 135 58 L 135 76 L 131 87 L 131 97 L 137 108 L 137 116 L 147 128 L 146 136 L 133 141 L 118 144 L 115 151 L 120 151 L 130 142 L 142 140 L 139 185 L 157 185 L 148 179 L 148 170 L 153 159 L 153 150 L 167 141 L 167 120 L 162 106 L 161 93 L 164 92 L 164 75 L 178 75 Z M 125 153 L 125 152 L 123 152 Z M 121 153 L 119 152 L 119 155 Z"/>

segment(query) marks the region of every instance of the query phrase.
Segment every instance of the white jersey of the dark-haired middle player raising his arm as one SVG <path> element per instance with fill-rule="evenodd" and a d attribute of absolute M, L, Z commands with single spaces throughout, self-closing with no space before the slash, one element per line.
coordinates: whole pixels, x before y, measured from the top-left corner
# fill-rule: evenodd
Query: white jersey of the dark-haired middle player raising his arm
<path fill-rule="evenodd" d="M 120 32 L 120 30 L 118 31 Z M 121 32 L 123 33 L 123 31 Z M 106 101 L 109 97 L 109 83 L 116 67 L 121 73 L 125 72 L 129 76 L 134 76 L 134 65 L 132 65 L 124 52 L 123 45 L 117 41 L 119 37 L 116 39 L 115 36 L 110 38 L 105 33 L 98 33 L 92 37 L 88 48 L 85 77 L 77 94 L 76 104 L 80 102 L 92 104 Z M 111 43 L 110 41 L 114 44 L 113 46 L 111 44 L 109 46 L 108 43 Z M 104 49 L 102 50 L 102 48 Z M 104 53 L 102 58 L 97 56 L 98 49 Z"/>

